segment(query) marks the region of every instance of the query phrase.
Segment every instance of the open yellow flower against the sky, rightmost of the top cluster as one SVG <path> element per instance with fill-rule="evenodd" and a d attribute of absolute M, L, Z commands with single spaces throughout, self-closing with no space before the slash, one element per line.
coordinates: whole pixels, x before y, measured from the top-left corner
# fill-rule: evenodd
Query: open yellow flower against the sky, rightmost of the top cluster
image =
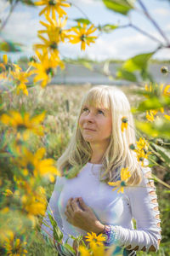
<path fill-rule="evenodd" d="M 87 29 L 87 24 L 83 24 L 81 26 L 80 23 L 78 23 L 77 27 L 72 27 L 71 31 L 75 32 L 77 35 L 70 35 L 72 39 L 70 39 L 70 43 L 71 44 L 77 44 L 79 42 L 81 42 L 81 49 L 85 50 L 86 49 L 86 44 L 88 44 L 88 46 L 91 43 L 95 43 L 94 39 L 96 39 L 97 37 L 89 37 L 90 34 L 92 34 L 93 32 L 96 31 L 97 28 L 94 27 L 94 25 L 91 25 L 88 29 Z"/>

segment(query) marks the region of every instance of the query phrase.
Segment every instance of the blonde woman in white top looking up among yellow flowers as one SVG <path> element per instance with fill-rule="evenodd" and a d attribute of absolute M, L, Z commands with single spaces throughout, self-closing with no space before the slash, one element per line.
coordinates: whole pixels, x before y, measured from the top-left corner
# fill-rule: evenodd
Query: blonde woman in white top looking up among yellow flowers
<path fill-rule="evenodd" d="M 122 119 L 127 119 L 127 129 L 122 129 Z M 94 232 L 105 235 L 106 246 L 126 247 L 123 255 L 158 249 L 161 228 L 155 186 L 148 179 L 150 168 L 141 167 L 129 148 L 135 141 L 133 116 L 124 93 L 107 85 L 89 90 L 71 142 L 58 160 L 63 177 L 57 177 L 47 210 L 52 210 L 64 241 L 69 235 Z M 130 175 L 124 193 L 117 193 L 122 188 L 112 191 L 108 182 L 120 181 L 122 170 Z M 47 212 L 44 221 L 50 225 Z M 42 230 L 53 237 L 44 224 Z M 72 245 L 71 238 L 68 242 Z"/>

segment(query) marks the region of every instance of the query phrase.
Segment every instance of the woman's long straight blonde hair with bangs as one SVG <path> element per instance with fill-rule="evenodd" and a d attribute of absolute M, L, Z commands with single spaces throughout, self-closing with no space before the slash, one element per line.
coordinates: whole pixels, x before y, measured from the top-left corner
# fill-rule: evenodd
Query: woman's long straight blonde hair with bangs
<path fill-rule="evenodd" d="M 120 171 L 123 167 L 128 167 L 131 173 L 127 184 L 136 185 L 141 181 L 141 168 L 136 156 L 129 148 L 130 144 L 135 144 L 135 129 L 133 124 L 133 115 L 130 111 L 130 104 L 127 96 L 114 86 L 98 85 L 88 90 L 82 99 L 80 112 L 70 143 L 65 152 L 59 157 L 57 167 L 65 173 L 71 172 L 72 169 L 79 172 L 82 166 L 86 165 L 91 159 L 92 148 L 86 142 L 80 131 L 78 120 L 82 114 L 84 105 L 94 105 L 95 107 L 111 108 L 112 132 L 108 148 L 103 155 L 103 167 L 100 172 L 100 178 L 105 182 L 115 181 L 120 177 Z M 127 129 L 122 132 L 122 117 L 127 117 Z M 76 172 L 76 174 L 77 174 Z M 74 172 L 73 172 L 74 173 Z M 75 175 L 73 174 L 72 177 Z"/>

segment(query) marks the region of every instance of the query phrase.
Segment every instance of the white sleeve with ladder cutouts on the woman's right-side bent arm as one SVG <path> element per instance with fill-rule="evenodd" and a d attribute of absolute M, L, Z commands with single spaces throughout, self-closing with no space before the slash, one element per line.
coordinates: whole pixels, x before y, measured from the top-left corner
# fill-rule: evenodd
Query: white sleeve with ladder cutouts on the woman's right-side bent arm
<path fill-rule="evenodd" d="M 138 247 L 141 250 L 145 247 L 146 252 L 151 246 L 158 249 L 158 240 L 161 240 L 161 228 L 159 223 L 160 212 L 156 201 L 156 188 L 154 183 L 145 177 L 150 172 L 149 167 L 143 167 L 142 182 L 136 187 L 127 187 L 125 193 L 131 207 L 132 216 L 136 220 L 137 229 L 129 230 L 121 226 L 112 226 L 115 232 L 116 242 L 121 246 Z"/>

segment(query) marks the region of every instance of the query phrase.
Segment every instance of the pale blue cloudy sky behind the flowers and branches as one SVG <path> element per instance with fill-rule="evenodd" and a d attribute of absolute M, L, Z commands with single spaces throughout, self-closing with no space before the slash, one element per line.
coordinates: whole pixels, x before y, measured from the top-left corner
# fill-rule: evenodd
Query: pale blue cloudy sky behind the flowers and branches
<path fill-rule="evenodd" d="M 76 26 L 74 19 L 84 18 L 82 12 L 88 16 L 88 19 L 95 26 L 105 24 L 124 26 L 129 24 L 131 20 L 135 26 L 139 26 L 140 29 L 150 33 L 150 35 L 165 44 L 165 40 L 155 26 L 142 14 L 138 3 L 138 12 L 130 11 L 128 16 L 124 16 L 106 9 L 104 3 L 100 0 L 70 0 L 70 2 L 72 3 L 71 8 L 65 8 L 69 17 L 68 26 Z M 170 42 L 170 2 L 166 0 L 142 0 L 142 2 Z M 5 0 L 0 0 L 1 20 L 4 20 L 8 15 L 8 8 L 8 3 Z M 32 44 L 38 43 L 37 30 L 43 27 L 39 23 L 39 20 L 43 20 L 43 18 L 38 15 L 41 9 L 41 7 L 28 7 L 19 3 L 10 16 L 7 26 L 4 27 L 2 34 L 0 34 L 3 39 L 24 45 L 21 53 L 9 55 L 13 61 L 16 61 L 22 55 L 27 55 L 28 57 L 34 55 Z M 95 33 L 95 35 L 99 35 L 99 32 Z M 67 58 L 87 57 L 94 61 L 104 61 L 106 59 L 127 60 L 133 55 L 153 51 L 158 45 L 156 41 L 128 27 L 116 29 L 110 34 L 100 34 L 96 43 L 90 44 L 89 47 L 87 46 L 85 51 L 81 51 L 80 44 L 67 43 L 59 45 L 59 52 L 62 57 Z M 153 58 L 170 60 L 170 49 L 159 50 L 153 55 Z"/>

